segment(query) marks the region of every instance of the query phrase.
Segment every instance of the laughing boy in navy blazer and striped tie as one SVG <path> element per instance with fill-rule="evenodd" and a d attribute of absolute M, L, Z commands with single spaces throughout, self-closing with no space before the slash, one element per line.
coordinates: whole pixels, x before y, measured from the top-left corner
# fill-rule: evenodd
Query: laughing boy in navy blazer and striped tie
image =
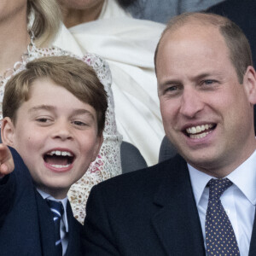
<path fill-rule="evenodd" d="M 69 56 L 31 61 L 6 84 L 2 140 L 24 163 L 11 149 L 15 171 L 0 169 L 0 255 L 80 255 L 67 191 L 96 159 L 107 105 L 93 69 Z"/>

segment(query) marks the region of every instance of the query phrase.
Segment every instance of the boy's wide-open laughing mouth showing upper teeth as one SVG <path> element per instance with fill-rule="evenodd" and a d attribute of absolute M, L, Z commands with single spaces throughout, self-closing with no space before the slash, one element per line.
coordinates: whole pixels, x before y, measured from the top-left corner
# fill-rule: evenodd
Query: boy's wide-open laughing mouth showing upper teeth
<path fill-rule="evenodd" d="M 74 159 L 74 154 L 66 150 L 51 150 L 44 154 L 44 162 L 55 168 L 68 167 Z"/>

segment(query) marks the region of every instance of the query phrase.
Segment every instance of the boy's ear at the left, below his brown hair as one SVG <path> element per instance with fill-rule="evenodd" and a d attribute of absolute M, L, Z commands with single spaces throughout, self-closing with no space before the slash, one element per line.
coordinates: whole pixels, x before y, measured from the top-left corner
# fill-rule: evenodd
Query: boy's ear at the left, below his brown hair
<path fill-rule="evenodd" d="M 9 117 L 6 117 L 2 120 L 1 138 L 4 144 L 14 147 L 15 125 Z"/>

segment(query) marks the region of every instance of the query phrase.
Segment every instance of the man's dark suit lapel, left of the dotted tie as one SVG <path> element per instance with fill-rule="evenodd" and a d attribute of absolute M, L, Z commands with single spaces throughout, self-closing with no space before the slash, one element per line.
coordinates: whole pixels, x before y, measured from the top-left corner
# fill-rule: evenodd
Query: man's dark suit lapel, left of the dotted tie
<path fill-rule="evenodd" d="M 166 177 L 155 195 L 160 207 L 152 223 L 168 255 L 205 255 L 201 223 L 186 162 L 166 161 Z"/>

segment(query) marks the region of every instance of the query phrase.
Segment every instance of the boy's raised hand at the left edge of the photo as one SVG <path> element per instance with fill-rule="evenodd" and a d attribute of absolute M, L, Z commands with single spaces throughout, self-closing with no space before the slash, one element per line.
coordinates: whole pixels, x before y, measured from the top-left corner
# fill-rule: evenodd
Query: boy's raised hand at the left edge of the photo
<path fill-rule="evenodd" d="M 0 177 L 4 177 L 5 175 L 13 172 L 15 170 L 15 163 L 13 160 L 13 156 L 9 151 L 9 148 L 0 144 Z"/>

